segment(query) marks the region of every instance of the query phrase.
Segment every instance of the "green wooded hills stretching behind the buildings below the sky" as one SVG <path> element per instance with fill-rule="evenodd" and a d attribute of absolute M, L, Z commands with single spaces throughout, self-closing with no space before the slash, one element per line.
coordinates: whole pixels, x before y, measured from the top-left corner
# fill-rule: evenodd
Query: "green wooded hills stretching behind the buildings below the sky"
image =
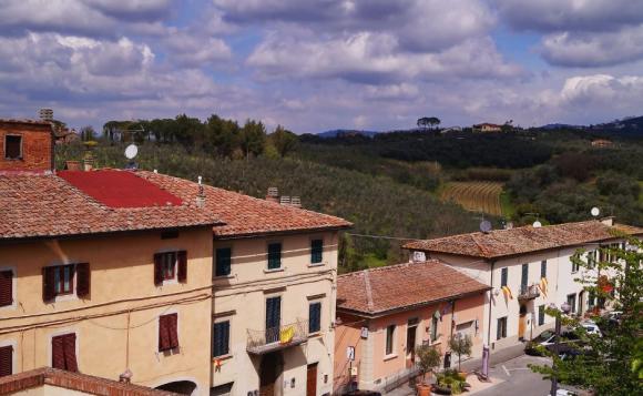
<path fill-rule="evenodd" d="M 478 206 L 496 227 L 537 217 L 586 220 L 593 206 L 643 226 L 643 139 L 632 133 L 610 135 L 611 144 L 601 148 L 591 142 L 605 139 L 604 131 L 571 128 L 319 138 L 282 126 L 268 132 L 258 121 L 239 124 L 216 114 L 205 121 L 185 114 L 110 121 L 102 135 L 83 130 L 85 143 L 98 141 L 88 145 L 100 166 L 124 167 L 124 146 L 134 142 L 140 167 L 191 180 L 202 175 L 207 184 L 257 197 L 276 186 L 300 196 L 306 209 L 351 221 L 355 229 L 341 241 L 341 271 L 407 260 L 399 247 L 405 238 L 477 231 Z M 86 149 L 79 143 L 57 150 L 61 167 Z M 458 200 L 458 186 L 469 185 L 486 186 L 477 189 L 486 196 L 467 192 Z"/>

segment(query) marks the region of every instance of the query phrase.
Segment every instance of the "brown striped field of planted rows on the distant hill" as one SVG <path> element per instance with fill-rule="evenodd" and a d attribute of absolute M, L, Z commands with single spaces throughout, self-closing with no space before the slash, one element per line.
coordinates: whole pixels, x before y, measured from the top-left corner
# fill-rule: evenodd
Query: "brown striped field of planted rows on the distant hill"
<path fill-rule="evenodd" d="M 442 189 L 440 197 L 442 201 L 456 202 L 468 211 L 500 216 L 501 193 L 502 183 L 499 182 L 451 182 Z"/>

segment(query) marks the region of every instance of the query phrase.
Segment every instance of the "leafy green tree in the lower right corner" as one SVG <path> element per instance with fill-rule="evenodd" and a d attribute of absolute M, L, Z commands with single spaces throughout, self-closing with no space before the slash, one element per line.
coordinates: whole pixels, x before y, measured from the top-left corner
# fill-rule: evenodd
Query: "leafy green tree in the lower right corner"
<path fill-rule="evenodd" d="M 615 233 L 615 236 L 626 237 Z M 604 247 L 602 256 L 612 260 L 593 263 L 585 260 L 579 251 L 572 261 L 579 266 L 590 268 L 582 278 L 591 295 L 613 304 L 622 315 L 618 325 L 609 326 L 609 321 L 596 316 L 593 319 L 603 328 L 603 336 L 588 335 L 578 319 L 561 315 L 560 311 L 547 309 L 548 315 L 558 316 L 562 324 L 571 327 L 586 345 L 579 346 L 580 355 L 574 359 L 562 361 L 557 354 L 545 351 L 553 359 L 552 366 L 531 365 L 530 368 L 558 378 L 561 384 L 573 385 L 592 390 L 596 395 L 635 395 L 641 392 L 643 373 L 643 244 L 640 240 L 627 238 L 627 248 Z M 592 275 L 593 274 L 593 275 Z M 608 274 L 609 277 L 604 275 Z M 615 293 L 612 293 L 614 291 Z"/>

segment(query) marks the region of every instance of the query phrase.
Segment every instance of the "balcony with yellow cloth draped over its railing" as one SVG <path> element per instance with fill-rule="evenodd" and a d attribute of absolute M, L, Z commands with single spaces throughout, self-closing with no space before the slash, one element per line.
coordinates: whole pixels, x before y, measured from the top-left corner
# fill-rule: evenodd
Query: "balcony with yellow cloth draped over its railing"
<path fill-rule="evenodd" d="M 269 354 L 308 341 L 308 321 L 297 321 L 279 327 L 253 331 L 248 328 L 246 349 L 254 355 Z"/>

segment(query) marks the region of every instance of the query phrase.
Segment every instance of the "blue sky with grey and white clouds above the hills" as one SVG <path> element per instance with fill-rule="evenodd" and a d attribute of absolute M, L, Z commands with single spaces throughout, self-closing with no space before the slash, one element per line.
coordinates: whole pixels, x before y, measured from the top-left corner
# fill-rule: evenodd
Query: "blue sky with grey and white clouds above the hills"
<path fill-rule="evenodd" d="M 297 133 L 643 115 L 639 0 L 0 0 L 0 118 Z"/>

